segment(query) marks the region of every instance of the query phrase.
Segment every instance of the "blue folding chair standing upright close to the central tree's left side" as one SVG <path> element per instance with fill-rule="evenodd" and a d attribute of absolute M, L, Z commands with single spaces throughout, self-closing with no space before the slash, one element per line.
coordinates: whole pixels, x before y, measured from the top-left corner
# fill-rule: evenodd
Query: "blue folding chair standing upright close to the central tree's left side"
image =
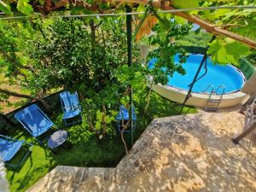
<path fill-rule="evenodd" d="M 72 125 L 81 122 L 82 119 L 82 109 L 79 104 L 79 96 L 77 92 L 73 94 L 69 91 L 64 91 L 60 93 L 61 98 L 61 108 L 64 113 L 63 120 L 66 125 Z M 67 123 L 67 119 L 72 119 L 74 117 L 79 117 L 78 120 Z"/>

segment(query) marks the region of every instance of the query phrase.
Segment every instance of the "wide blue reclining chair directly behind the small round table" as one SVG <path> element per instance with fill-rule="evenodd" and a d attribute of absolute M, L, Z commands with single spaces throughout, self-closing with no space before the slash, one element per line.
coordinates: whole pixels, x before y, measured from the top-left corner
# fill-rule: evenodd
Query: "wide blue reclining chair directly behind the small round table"
<path fill-rule="evenodd" d="M 23 125 L 32 137 L 37 139 L 38 143 L 44 142 L 40 141 L 38 137 L 54 125 L 54 123 L 40 108 L 38 108 L 38 105 L 36 104 L 32 104 L 31 106 L 23 108 L 19 112 L 15 113 L 15 119 Z"/>

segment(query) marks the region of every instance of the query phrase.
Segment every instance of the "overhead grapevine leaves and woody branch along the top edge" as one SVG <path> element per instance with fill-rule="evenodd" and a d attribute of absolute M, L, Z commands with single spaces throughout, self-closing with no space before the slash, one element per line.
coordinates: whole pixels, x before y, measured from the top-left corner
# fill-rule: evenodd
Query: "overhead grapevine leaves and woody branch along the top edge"
<path fill-rule="evenodd" d="M 3 0 L 1 0 L 3 1 Z M 17 3 L 21 3 L 23 7 L 25 7 L 23 10 L 24 13 L 30 15 L 31 9 L 29 8 L 28 4 L 32 6 L 34 11 L 40 12 L 43 15 L 49 15 L 53 11 L 58 10 L 73 10 L 77 8 L 82 8 L 84 10 L 93 11 L 94 13 L 109 13 L 110 9 L 121 9 L 125 8 L 125 4 L 129 4 L 130 6 L 134 6 L 136 3 L 140 5 L 146 5 L 150 4 L 155 9 L 184 9 L 184 8 L 197 8 L 197 7 L 209 7 L 209 6 L 232 6 L 232 5 L 252 5 L 255 6 L 256 2 L 254 0 L 172 0 L 172 1 L 150 1 L 150 0 L 107 0 L 107 1 L 90 1 L 90 0 L 84 0 L 84 1 L 75 1 L 72 0 L 59 0 L 59 1 L 53 1 L 53 0 L 13 0 L 10 4 L 10 6 L 13 7 L 13 9 L 17 9 Z M 9 1 L 6 3 L 9 4 Z M 137 5 L 136 5 L 137 7 Z M 138 9 L 141 9 L 142 6 L 139 6 Z M 145 8 L 144 8 L 145 9 Z M 20 8 L 21 10 L 21 8 Z M 247 44 L 248 46 L 252 48 L 256 48 L 256 42 L 252 40 L 251 36 L 255 37 L 255 32 L 253 35 L 253 27 L 250 30 L 241 30 L 239 27 L 236 27 L 237 25 L 241 25 L 239 22 L 242 22 L 241 19 L 236 20 L 236 23 L 233 23 L 233 16 L 245 17 L 245 15 L 248 15 L 248 18 L 246 20 L 247 22 L 247 28 L 250 28 L 249 26 L 256 26 L 255 20 L 253 19 L 255 17 L 255 13 L 250 13 L 253 10 L 241 10 L 236 9 L 232 10 L 229 13 L 226 13 L 225 11 L 190 11 L 189 14 L 185 12 L 176 12 L 173 13 L 174 15 L 183 17 L 186 20 L 190 20 L 203 28 L 205 28 L 208 32 L 211 32 L 215 35 L 224 35 L 229 38 L 233 38 L 237 41 L 240 41 L 243 44 Z M 212 16 L 213 14 L 213 16 Z M 238 14 L 238 15 L 237 15 Z M 168 14 L 167 14 L 168 15 Z M 196 15 L 196 16 L 194 16 Z M 231 16 L 229 16 L 231 15 Z M 253 16 L 254 15 L 254 16 Z M 214 17 L 218 17 L 219 19 L 214 19 Z M 230 17 L 230 20 L 227 21 L 227 17 Z M 224 22 L 219 22 L 219 20 L 223 20 Z M 211 22 L 213 21 L 213 25 Z M 232 22 L 231 22 L 232 21 Z M 230 22 L 230 23 L 229 23 Z M 244 23 L 244 22 L 243 22 Z M 214 25 L 233 25 L 234 27 L 226 28 L 224 27 L 214 27 Z M 228 30 L 227 30 L 228 29 Z M 235 33 L 233 33 L 235 32 Z M 240 35 L 243 35 L 244 33 L 250 34 L 251 36 L 247 38 L 243 38 Z M 251 39 L 249 39 L 251 38 Z M 255 39 L 255 38 L 253 38 Z"/>

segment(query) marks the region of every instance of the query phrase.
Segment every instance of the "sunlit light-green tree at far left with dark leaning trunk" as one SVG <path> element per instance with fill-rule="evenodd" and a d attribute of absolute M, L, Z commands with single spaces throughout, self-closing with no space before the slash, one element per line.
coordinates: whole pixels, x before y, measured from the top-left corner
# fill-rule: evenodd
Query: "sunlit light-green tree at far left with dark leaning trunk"
<path fill-rule="evenodd" d="M 4 100 L 9 96 L 15 96 L 38 101 L 48 113 L 51 113 L 49 104 L 42 99 L 44 96 L 42 90 L 30 89 L 31 77 L 36 73 L 36 69 L 33 67 L 28 50 L 32 48 L 32 40 L 38 32 L 33 30 L 28 20 L 0 20 L 0 34 L 0 57 L 3 60 L 3 73 L 9 78 L 9 84 L 18 85 L 20 90 L 31 90 L 29 95 L 20 93 L 20 90 L 0 89 L 0 97 Z"/>

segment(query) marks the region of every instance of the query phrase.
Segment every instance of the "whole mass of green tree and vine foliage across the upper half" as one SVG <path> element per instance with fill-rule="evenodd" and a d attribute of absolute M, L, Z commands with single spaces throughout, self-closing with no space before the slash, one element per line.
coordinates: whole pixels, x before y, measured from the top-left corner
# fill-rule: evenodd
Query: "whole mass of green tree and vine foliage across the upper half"
<path fill-rule="evenodd" d="M 22 90 L 29 90 L 33 96 L 45 96 L 52 90 L 63 88 L 79 90 L 84 101 L 87 99 L 87 108 L 92 108 L 95 112 L 92 119 L 102 119 L 99 117 L 103 108 L 112 110 L 120 102 L 127 103 L 130 85 L 135 92 L 145 89 L 145 77 L 148 75 L 154 76 L 154 83 L 166 84 L 167 77 L 174 72 L 185 73 L 181 64 L 173 62 L 173 55 L 181 53 L 180 62 L 185 61 L 186 52 L 177 40 L 189 34 L 191 22 L 179 17 L 180 15 L 158 13 L 154 4 L 162 8 L 156 1 L 140 5 L 128 3 L 133 11 L 148 11 L 148 15 L 133 16 L 137 37 L 153 32 L 149 44 L 154 45 L 155 49 L 149 52 L 148 60 L 153 57 L 159 59 L 154 69 L 148 69 L 138 62 L 136 46 L 133 49 L 133 67 L 126 65 L 126 29 L 123 16 L 57 16 L 106 13 L 110 9 L 122 13 L 127 6 L 126 1 L 0 0 L 0 10 L 6 15 L 28 16 L 21 20 L 0 20 L 0 55 L 6 66 L 5 75 L 9 77 L 11 84 L 19 84 Z M 227 5 L 255 5 L 255 1 L 172 1 L 172 7 L 177 9 Z M 45 19 L 38 13 L 57 18 Z M 196 20 L 196 15 L 211 22 L 213 32 L 214 27 L 218 27 L 255 39 L 256 17 L 253 9 L 194 10 L 182 14 L 187 15 L 187 19 L 192 17 Z M 139 25 L 141 30 L 135 30 L 138 20 L 143 20 Z M 236 64 L 240 56 L 251 52 L 247 45 L 224 36 L 218 36 L 208 46 L 207 54 L 212 55 L 213 61 L 224 64 Z M 166 68 L 165 71 L 162 70 L 163 67 Z"/>

